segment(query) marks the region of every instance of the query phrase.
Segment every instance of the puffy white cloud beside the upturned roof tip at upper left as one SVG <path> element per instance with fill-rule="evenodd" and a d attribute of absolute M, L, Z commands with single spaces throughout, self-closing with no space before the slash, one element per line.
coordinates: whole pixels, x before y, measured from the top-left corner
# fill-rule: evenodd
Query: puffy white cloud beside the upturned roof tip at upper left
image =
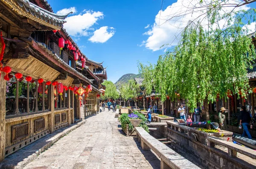
<path fill-rule="evenodd" d="M 64 23 L 64 28 L 72 36 L 89 36 L 88 30 L 92 30 L 93 28 L 91 27 L 99 19 L 103 19 L 103 12 L 84 10 L 78 15 L 67 17 L 67 23 Z"/>

